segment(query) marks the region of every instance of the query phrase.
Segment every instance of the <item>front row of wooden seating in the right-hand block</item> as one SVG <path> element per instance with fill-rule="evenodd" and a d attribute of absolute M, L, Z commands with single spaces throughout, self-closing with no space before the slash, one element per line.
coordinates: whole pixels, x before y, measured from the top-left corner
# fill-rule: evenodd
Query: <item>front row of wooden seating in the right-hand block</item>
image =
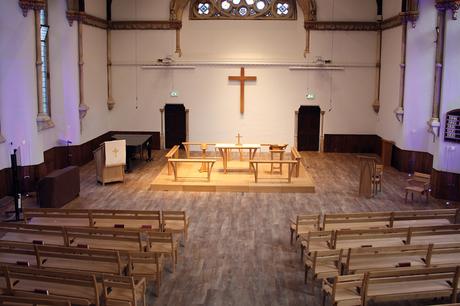
<path fill-rule="evenodd" d="M 304 214 L 291 220 L 291 244 L 294 237 L 297 239 L 301 234 L 310 231 L 429 226 L 459 222 L 460 209 Z"/>

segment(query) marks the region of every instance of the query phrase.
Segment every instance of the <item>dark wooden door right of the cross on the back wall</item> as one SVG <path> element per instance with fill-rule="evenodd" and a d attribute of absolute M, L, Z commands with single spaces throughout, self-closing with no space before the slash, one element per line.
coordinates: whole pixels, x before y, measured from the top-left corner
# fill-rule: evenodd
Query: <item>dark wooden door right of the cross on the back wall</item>
<path fill-rule="evenodd" d="M 319 106 L 300 106 L 297 127 L 299 151 L 319 151 L 320 116 Z"/>

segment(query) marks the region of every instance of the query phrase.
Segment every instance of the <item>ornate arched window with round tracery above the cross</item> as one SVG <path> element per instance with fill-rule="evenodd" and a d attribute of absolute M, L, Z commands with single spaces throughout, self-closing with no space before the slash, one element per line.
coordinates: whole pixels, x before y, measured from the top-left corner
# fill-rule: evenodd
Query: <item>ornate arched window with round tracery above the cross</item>
<path fill-rule="evenodd" d="M 190 19 L 295 20 L 295 0 L 192 0 Z"/>

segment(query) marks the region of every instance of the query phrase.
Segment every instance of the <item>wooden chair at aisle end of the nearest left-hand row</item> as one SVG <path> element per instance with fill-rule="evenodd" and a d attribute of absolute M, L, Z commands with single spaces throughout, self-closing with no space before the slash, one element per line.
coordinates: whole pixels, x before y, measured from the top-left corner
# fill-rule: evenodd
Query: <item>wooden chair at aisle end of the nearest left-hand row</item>
<path fill-rule="evenodd" d="M 137 306 L 139 302 L 143 306 L 146 305 L 145 278 L 104 276 L 102 278 L 102 288 L 106 306 Z"/>

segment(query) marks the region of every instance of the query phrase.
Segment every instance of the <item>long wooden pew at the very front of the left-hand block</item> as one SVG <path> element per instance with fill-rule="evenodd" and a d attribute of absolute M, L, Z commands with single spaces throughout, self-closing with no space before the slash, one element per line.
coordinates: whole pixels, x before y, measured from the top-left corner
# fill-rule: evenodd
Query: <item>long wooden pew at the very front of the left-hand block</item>
<path fill-rule="evenodd" d="M 160 211 L 111 209 L 24 208 L 31 224 L 79 227 L 124 227 L 161 229 Z"/>

